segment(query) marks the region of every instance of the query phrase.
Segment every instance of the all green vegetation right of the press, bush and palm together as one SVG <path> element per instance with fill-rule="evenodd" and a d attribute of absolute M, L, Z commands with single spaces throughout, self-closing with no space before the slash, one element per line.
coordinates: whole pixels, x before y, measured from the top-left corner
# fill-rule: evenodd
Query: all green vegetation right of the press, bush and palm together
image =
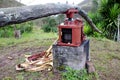
<path fill-rule="evenodd" d="M 102 30 L 102 35 L 93 32 L 88 24 L 85 25 L 85 33 L 89 36 L 106 37 L 116 39 L 117 17 L 120 14 L 119 0 L 93 0 L 92 10 L 88 13 L 96 26 Z"/>

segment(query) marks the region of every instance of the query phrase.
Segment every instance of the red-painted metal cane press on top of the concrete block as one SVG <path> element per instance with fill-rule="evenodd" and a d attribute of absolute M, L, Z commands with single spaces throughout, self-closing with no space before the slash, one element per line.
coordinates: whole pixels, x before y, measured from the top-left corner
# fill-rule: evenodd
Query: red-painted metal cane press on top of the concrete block
<path fill-rule="evenodd" d="M 57 44 L 60 46 L 80 46 L 85 40 L 83 33 L 83 21 L 80 19 L 71 20 L 76 9 L 69 9 L 66 12 L 67 20 L 63 25 L 59 25 L 59 39 Z"/>

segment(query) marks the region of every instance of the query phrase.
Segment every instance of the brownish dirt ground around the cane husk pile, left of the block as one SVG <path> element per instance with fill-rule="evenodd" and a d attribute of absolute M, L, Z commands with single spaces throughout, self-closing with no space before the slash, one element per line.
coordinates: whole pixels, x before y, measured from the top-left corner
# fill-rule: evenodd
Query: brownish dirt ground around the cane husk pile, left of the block
<path fill-rule="evenodd" d="M 37 44 L 40 44 L 40 46 L 34 44 L 36 41 L 31 41 L 9 47 L 0 47 L 0 80 L 59 80 L 60 74 L 55 73 L 53 75 L 52 71 L 17 72 L 15 70 L 16 64 L 25 61 L 25 54 L 36 54 L 45 51 L 49 48 L 49 45 L 46 45 L 46 43 L 53 41 L 54 39 L 37 41 Z M 32 46 L 29 46 L 30 44 Z M 44 44 L 45 46 L 43 46 Z"/>

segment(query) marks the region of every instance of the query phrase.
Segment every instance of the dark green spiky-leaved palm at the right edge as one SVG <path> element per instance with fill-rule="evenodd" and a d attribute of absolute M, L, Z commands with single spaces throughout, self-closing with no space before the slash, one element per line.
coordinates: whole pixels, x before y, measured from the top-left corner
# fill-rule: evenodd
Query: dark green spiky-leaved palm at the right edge
<path fill-rule="evenodd" d="M 113 39 L 117 33 L 117 17 L 120 14 L 120 0 L 101 0 L 99 12 L 103 18 L 102 26 L 107 38 Z"/>

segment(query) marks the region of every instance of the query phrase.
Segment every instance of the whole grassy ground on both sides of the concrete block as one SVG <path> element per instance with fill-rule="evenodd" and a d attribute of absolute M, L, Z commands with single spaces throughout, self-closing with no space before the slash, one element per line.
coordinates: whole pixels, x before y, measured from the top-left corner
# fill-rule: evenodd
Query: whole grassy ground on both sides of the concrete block
<path fill-rule="evenodd" d="M 15 65 L 24 62 L 24 54 L 31 54 L 46 50 L 57 38 L 55 33 L 44 33 L 40 29 L 32 33 L 23 34 L 20 39 L 0 39 L 0 80 L 53 80 L 60 79 L 52 72 L 16 72 Z M 105 38 L 89 38 L 91 61 L 94 63 L 96 72 L 83 78 L 88 80 L 119 80 L 120 73 L 120 43 Z M 12 56 L 13 60 L 6 57 Z M 6 63 L 7 61 L 7 63 Z M 7 71 L 7 72 L 6 72 Z M 76 71 L 69 70 L 63 76 L 74 80 Z M 72 73 L 72 74 L 71 74 Z M 113 74 L 114 73 L 114 74 Z M 74 75 L 73 75 L 74 74 Z M 67 79 L 68 79 L 67 78 Z M 80 77 L 79 77 L 80 78 Z M 65 80 L 66 78 L 64 78 Z M 79 80 L 79 79 L 78 79 Z"/>

